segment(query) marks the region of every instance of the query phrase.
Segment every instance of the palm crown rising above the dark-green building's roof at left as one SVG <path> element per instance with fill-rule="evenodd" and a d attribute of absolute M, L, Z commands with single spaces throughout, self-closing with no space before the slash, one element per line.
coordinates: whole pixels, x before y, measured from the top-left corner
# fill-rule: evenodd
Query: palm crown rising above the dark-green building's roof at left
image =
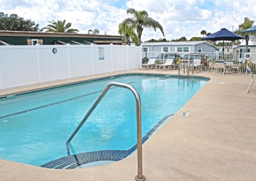
<path fill-rule="evenodd" d="M 63 22 L 61 22 L 60 20 L 57 20 L 57 22 L 54 22 L 54 20 L 52 20 L 52 22 L 49 22 L 51 24 L 47 25 L 47 27 L 43 27 L 42 29 L 40 29 L 40 32 L 44 31 L 44 29 L 47 29 L 47 31 L 45 32 L 54 32 L 54 33 L 76 33 L 79 32 L 78 29 L 68 29 L 71 27 L 71 23 L 67 23 L 65 25 L 66 20 L 63 20 Z"/>

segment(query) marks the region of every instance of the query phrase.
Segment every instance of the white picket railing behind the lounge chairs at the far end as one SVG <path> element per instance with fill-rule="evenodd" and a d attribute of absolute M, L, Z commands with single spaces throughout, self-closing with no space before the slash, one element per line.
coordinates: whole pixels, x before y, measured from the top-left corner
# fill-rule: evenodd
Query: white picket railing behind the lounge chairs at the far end
<path fill-rule="evenodd" d="M 156 64 L 164 64 L 167 57 L 174 57 L 174 65 L 172 67 L 174 69 L 179 68 L 179 58 L 182 61 L 183 59 L 193 60 L 194 57 L 201 57 L 202 70 L 204 71 L 207 71 L 209 69 L 208 61 L 212 60 L 212 62 L 215 62 L 218 60 L 223 60 L 223 54 L 219 52 L 142 52 L 142 63 L 146 64 L 150 57 L 156 58 Z M 243 57 L 244 54 L 224 54 L 225 61 L 234 61 L 234 64 L 239 64 L 239 62 L 242 62 L 240 68 L 241 72 L 247 73 L 246 66 L 249 65 L 249 61 L 245 61 Z M 252 54 L 252 59 L 250 61 L 252 61 L 252 71 L 256 73 L 256 54 Z"/>

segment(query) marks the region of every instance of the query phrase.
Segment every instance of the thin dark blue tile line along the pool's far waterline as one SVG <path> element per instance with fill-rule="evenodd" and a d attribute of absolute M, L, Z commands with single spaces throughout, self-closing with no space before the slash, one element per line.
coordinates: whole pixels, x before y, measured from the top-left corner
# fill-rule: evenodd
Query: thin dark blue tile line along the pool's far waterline
<path fill-rule="evenodd" d="M 167 76 L 167 77 L 172 77 L 172 78 L 187 78 L 188 76 L 177 76 L 177 75 L 162 75 L 162 74 L 147 74 L 147 73 L 128 73 L 128 74 L 123 74 L 123 75 L 111 75 L 111 76 L 108 76 L 108 77 L 104 77 L 104 78 L 97 78 L 97 79 L 93 79 L 93 80 L 85 80 L 83 82 L 76 82 L 76 83 L 70 83 L 70 84 L 67 84 L 67 85 L 60 85 L 60 86 L 56 86 L 56 87 L 50 87 L 50 88 L 46 88 L 46 89 L 40 89 L 40 90 L 36 90 L 36 91 L 29 91 L 29 92 L 24 92 L 24 93 L 20 93 L 20 94 L 13 94 L 11 96 L 3 96 L 3 97 L 0 97 L 0 99 L 4 99 L 4 98 L 9 98 L 9 97 L 12 97 L 12 96 L 20 96 L 20 95 L 24 95 L 24 94 L 30 94 L 30 93 L 33 93 L 33 92 L 39 92 L 39 91 L 47 91 L 49 89 L 56 89 L 56 88 L 60 88 L 60 87 L 67 87 L 67 86 L 70 86 L 70 85 L 77 85 L 77 84 L 80 84 L 80 83 L 87 83 L 87 82 L 94 82 L 94 81 L 97 81 L 97 80 L 105 80 L 105 79 L 108 79 L 108 78 L 115 78 L 115 77 L 119 77 L 119 76 L 134 76 L 134 75 L 145 75 L 145 76 Z M 198 79 L 202 79 L 202 80 L 210 80 L 211 78 L 206 78 L 206 77 L 201 77 L 201 76 L 189 76 L 189 78 L 198 78 Z"/>

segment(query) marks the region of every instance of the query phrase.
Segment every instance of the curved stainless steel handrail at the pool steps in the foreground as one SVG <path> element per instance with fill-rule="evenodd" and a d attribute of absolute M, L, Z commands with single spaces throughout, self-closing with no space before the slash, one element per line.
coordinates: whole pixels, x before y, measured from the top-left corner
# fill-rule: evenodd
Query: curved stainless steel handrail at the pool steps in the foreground
<path fill-rule="evenodd" d="M 88 117 L 91 115 L 93 110 L 96 108 L 96 106 L 100 103 L 101 99 L 105 96 L 105 94 L 108 92 L 110 87 L 116 86 L 116 87 L 123 87 L 125 89 L 129 89 L 134 94 L 134 97 L 136 99 L 136 115 L 137 115 L 137 146 L 138 146 L 138 175 L 136 175 L 135 180 L 146 180 L 146 177 L 142 174 L 142 140 L 141 140 L 141 102 L 140 102 L 140 95 L 136 89 L 129 84 L 126 83 L 119 83 L 119 82 L 110 82 L 102 91 L 99 98 L 95 101 L 92 108 L 86 113 L 83 120 L 80 122 L 80 124 L 76 127 L 76 130 L 74 133 L 71 134 L 71 136 L 68 138 L 66 145 L 67 145 L 67 152 L 68 156 L 70 156 L 70 150 L 68 142 L 72 140 L 72 138 L 76 135 L 77 131 L 83 126 L 84 122 L 88 119 Z"/>

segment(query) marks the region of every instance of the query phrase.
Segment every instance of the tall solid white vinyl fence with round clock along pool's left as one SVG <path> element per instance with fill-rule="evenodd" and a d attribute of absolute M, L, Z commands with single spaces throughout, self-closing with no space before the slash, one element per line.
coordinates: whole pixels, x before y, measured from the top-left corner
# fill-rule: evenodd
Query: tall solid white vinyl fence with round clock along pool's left
<path fill-rule="evenodd" d="M 54 54 L 53 48 L 57 52 Z M 141 47 L 124 45 L 0 46 L 0 89 L 136 69 Z"/>

